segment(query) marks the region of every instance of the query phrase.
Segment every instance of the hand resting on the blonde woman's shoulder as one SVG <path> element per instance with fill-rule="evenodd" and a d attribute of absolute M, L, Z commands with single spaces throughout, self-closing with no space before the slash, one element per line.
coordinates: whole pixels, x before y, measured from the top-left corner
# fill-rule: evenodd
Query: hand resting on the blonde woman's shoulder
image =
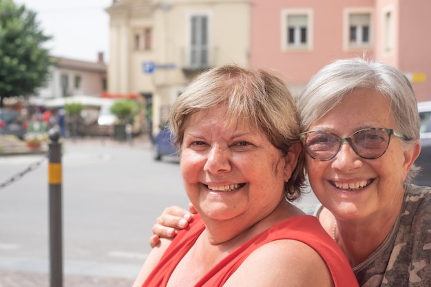
<path fill-rule="evenodd" d="M 191 215 L 196 213 L 193 204 L 189 204 L 189 210 L 190 212 L 176 205 L 165 209 L 152 228 L 154 235 L 149 238 L 151 248 L 157 246 L 160 242 L 160 237 L 172 238 L 176 235 L 178 229 L 186 228 L 191 220 Z"/>

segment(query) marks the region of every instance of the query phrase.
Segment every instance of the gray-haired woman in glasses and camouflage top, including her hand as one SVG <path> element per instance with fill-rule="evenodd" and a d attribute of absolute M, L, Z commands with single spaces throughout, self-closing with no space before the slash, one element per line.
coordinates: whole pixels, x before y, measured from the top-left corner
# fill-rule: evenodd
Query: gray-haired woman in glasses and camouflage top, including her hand
<path fill-rule="evenodd" d="M 311 78 L 297 107 L 306 173 L 322 203 L 315 215 L 359 286 L 431 286 L 431 189 L 409 183 L 421 147 L 406 76 L 385 63 L 338 60 Z M 184 228 L 188 217 L 167 209 L 153 230 L 172 236 L 161 224 Z"/>

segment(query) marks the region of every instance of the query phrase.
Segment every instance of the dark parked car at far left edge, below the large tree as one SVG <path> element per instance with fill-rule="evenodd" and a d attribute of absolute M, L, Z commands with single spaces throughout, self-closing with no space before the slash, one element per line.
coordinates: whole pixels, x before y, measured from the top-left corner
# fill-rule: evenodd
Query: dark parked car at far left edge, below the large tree
<path fill-rule="evenodd" d="M 12 134 L 23 140 L 27 127 L 28 122 L 19 111 L 0 109 L 0 134 Z"/>

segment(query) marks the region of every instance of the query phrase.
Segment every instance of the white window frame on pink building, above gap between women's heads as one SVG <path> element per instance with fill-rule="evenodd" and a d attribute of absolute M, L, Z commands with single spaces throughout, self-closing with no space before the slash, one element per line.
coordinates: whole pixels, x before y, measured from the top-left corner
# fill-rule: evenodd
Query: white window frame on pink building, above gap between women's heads
<path fill-rule="evenodd" d="M 306 43 L 298 43 L 295 41 L 294 44 L 288 43 L 288 17 L 290 16 L 305 16 L 306 17 Z M 313 50 L 313 10 L 312 9 L 282 9 L 281 11 L 281 49 L 283 52 L 295 51 L 295 50 Z M 295 28 L 298 32 L 295 38 L 299 39 L 299 27 Z"/>

